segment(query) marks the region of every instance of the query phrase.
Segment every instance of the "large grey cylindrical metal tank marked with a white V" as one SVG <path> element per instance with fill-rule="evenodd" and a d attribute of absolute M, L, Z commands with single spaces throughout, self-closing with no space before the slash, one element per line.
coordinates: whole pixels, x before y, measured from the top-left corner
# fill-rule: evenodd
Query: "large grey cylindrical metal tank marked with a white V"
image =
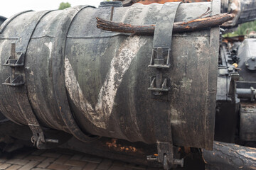
<path fill-rule="evenodd" d="M 181 4 L 175 21 L 191 21 L 208 8 L 211 15 L 219 13 L 219 3 L 213 4 Z M 173 35 L 171 67 L 164 71 L 170 79 L 167 98 L 155 98 L 148 90 L 150 78 L 156 75 L 156 69 L 148 67 L 154 36 L 97 28 L 96 17 L 155 24 L 162 6 L 134 4 L 113 11 L 111 6 L 75 6 L 9 18 L 0 34 L 0 81 L 5 82 L 0 85 L 0 111 L 15 123 L 28 125 L 29 106 L 41 126 L 78 138 L 84 133 L 149 144 L 156 143 L 156 124 L 170 120 L 171 128 L 166 123 L 166 130 L 171 129 L 167 133 L 174 145 L 210 148 L 218 28 Z M 23 66 L 6 64 L 11 43 L 16 43 Z M 20 78 L 16 83 L 8 79 L 11 70 Z M 159 109 L 156 102 L 166 108 Z M 165 117 L 157 122 L 156 115 Z"/>

